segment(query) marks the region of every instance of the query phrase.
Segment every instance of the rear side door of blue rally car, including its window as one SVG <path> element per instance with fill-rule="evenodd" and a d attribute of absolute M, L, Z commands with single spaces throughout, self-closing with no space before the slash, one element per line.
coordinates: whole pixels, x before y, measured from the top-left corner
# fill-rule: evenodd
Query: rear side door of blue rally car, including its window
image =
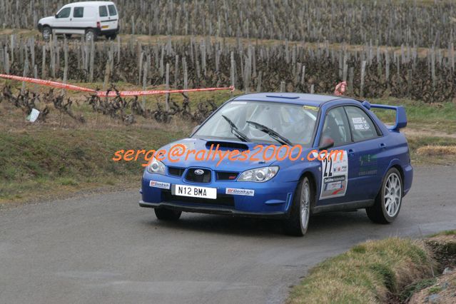
<path fill-rule="evenodd" d="M 385 141 L 380 128 L 368 113 L 358 106 L 344 106 L 353 143 L 348 147 L 350 196 L 356 201 L 375 198 L 382 176 L 379 168 L 385 162 Z"/>

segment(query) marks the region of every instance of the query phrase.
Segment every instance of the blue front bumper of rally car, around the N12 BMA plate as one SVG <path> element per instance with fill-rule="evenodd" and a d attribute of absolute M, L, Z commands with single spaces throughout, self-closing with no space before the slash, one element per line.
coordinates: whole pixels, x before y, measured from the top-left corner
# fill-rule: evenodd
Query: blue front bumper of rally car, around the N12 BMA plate
<path fill-rule="evenodd" d="M 277 178 L 265 183 L 238 181 L 211 181 L 211 183 L 191 183 L 181 177 L 164 176 L 144 172 L 141 186 L 142 200 L 139 206 L 146 208 L 170 208 L 196 213 L 227 214 L 262 218 L 288 216 L 297 183 L 280 182 Z M 151 181 L 169 183 L 170 188 L 150 186 Z M 173 196 L 172 185 L 201 186 L 217 189 L 217 198 L 188 198 Z M 227 194 L 227 188 L 253 190 L 253 196 Z"/>

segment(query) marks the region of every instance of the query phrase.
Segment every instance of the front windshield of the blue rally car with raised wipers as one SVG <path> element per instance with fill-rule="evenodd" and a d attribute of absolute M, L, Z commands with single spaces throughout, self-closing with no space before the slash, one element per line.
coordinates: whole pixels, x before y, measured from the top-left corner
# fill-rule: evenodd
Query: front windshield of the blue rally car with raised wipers
<path fill-rule="evenodd" d="M 314 106 L 230 101 L 214 113 L 193 137 L 236 141 L 246 141 L 245 138 L 248 138 L 248 141 L 255 143 L 290 142 L 309 147 L 317 114 L 318 108 Z"/>

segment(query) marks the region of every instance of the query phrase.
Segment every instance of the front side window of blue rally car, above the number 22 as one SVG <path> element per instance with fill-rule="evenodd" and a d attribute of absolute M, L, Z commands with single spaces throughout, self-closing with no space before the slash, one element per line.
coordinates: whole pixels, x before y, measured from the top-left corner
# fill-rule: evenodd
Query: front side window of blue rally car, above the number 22
<path fill-rule="evenodd" d="M 333 108 L 325 116 L 323 132 L 320 137 L 320 146 L 333 140 L 334 146 L 342 146 L 350 143 L 350 126 L 348 125 L 347 115 L 342 106 Z"/>

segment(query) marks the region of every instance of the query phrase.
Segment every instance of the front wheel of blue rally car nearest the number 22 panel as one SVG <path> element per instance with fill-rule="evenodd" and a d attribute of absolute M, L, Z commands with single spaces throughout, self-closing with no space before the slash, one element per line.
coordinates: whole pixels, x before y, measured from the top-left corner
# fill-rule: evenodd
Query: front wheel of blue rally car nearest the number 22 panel
<path fill-rule="evenodd" d="M 308 191 L 307 193 L 305 191 Z M 302 203 L 303 196 L 307 196 L 305 203 Z M 304 177 L 296 187 L 293 204 L 290 210 L 290 217 L 283 221 L 285 233 L 294 236 L 303 236 L 309 226 L 311 207 L 314 205 L 315 190 L 307 177 Z M 305 207 L 306 206 L 306 207 Z M 305 216 L 301 216 L 303 208 L 307 208 Z"/>

